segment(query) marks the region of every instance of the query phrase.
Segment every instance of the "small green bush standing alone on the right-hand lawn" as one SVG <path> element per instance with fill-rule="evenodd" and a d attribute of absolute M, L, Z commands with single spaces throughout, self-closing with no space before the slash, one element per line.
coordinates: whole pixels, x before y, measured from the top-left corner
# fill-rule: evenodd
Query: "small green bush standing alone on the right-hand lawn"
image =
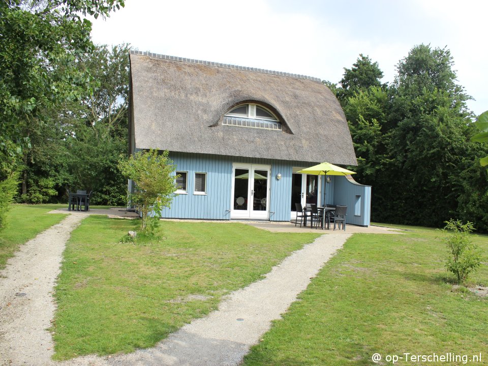
<path fill-rule="evenodd" d="M 463 224 L 453 219 L 445 221 L 442 241 L 449 250 L 446 267 L 454 273 L 458 284 L 464 284 L 469 274 L 481 265 L 481 250 L 471 241 L 473 223 Z"/>

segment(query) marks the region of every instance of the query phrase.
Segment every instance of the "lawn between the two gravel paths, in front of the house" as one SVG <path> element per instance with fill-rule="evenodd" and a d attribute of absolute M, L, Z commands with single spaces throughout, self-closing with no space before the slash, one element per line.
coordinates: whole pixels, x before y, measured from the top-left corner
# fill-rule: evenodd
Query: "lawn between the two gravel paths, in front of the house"
<path fill-rule="evenodd" d="M 119 242 L 139 225 L 92 216 L 73 231 L 55 290 L 55 359 L 153 346 L 320 234 L 164 221 L 165 239 Z"/>

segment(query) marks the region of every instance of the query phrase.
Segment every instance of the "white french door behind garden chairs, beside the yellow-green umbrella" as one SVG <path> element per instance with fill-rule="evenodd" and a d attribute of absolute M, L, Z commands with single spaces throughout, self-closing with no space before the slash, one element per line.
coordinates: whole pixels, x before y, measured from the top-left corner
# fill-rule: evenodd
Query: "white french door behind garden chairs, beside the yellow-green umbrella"
<path fill-rule="evenodd" d="M 302 168 L 293 168 L 298 171 Z M 307 204 L 322 204 L 322 176 L 293 173 L 291 180 L 291 219 L 296 218 L 295 203 L 300 203 L 302 207 Z"/>

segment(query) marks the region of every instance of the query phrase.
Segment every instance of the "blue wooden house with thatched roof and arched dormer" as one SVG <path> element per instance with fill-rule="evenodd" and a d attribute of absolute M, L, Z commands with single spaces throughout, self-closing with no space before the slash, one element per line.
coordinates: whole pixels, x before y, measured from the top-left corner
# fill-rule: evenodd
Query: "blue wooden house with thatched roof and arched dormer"
<path fill-rule="evenodd" d="M 348 205 L 348 223 L 369 225 L 371 187 L 296 173 L 357 165 L 341 105 L 320 79 L 140 51 L 130 64 L 130 151 L 169 150 L 179 175 L 163 217 L 289 221 L 295 202 L 325 199 Z"/>

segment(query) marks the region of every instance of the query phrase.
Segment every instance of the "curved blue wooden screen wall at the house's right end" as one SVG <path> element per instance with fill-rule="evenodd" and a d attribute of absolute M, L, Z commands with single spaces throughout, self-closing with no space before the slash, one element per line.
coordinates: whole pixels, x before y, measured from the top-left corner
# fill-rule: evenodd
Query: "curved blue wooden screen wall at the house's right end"
<path fill-rule="evenodd" d="M 351 182 L 344 176 L 336 175 L 331 176 L 331 178 L 334 183 L 333 204 L 347 206 L 346 223 L 369 226 L 371 221 L 371 186 Z"/>

